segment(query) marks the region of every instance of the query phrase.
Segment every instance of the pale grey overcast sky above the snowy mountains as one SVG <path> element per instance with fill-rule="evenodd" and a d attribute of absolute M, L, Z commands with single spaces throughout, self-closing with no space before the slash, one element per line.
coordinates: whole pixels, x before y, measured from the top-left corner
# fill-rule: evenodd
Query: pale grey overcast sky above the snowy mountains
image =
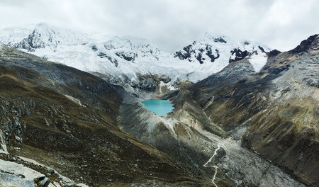
<path fill-rule="evenodd" d="M 173 52 L 204 33 L 291 50 L 319 33 L 318 0 L 1 0 L 0 28 L 34 23 L 133 35 Z"/>

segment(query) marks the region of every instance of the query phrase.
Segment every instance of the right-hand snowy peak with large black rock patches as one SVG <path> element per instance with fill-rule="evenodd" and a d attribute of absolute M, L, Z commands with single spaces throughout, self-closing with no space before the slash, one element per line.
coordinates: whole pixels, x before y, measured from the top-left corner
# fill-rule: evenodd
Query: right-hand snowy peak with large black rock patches
<path fill-rule="evenodd" d="M 216 69 L 221 70 L 228 63 L 258 55 L 260 56 L 257 58 L 258 62 L 254 57 L 251 62 L 258 72 L 262 68 L 261 66 L 266 63 L 266 52 L 269 51 L 269 47 L 258 45 L 255 42 L 237 41 L 223 35 L 216 37 L 206 33 L 198 41 L 194 41 L 191 45 L 175 52 L 174 57 L 178 57 L 179 60 L 199 62 L 200 64 L 211 63 L 212 66 L 216 66 Z"/>

